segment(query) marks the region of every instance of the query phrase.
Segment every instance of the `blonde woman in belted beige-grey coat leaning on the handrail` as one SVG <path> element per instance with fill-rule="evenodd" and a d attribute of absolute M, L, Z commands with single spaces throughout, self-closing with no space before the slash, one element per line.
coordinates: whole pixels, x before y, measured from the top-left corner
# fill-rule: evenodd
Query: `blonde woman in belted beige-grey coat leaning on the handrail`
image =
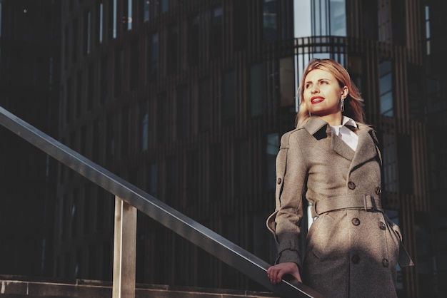
<path fill-rule="evenodd" d="M 290 274 L 326 297 L 396 297 L 396 264 L 412 265 L 399 227 L 381 207 L 381 153 L 363 99 L 343 66 L 311 61 L 299 88 L 296 129 L 276 157 L 273 284 Z M 318 218 L 298 244 L 303 200 Z M 399 254 L 399 252 L 401 252 Z"/>

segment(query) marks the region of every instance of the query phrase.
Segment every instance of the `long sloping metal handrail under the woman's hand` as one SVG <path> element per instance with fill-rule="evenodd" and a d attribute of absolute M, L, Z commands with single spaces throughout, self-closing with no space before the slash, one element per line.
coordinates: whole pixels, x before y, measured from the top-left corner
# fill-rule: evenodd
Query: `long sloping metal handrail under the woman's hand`
<path fill-rule="evenodd" d="M 109 170 L 93 163 L 2 107 L 0 107 L 0 124 L 91 182 L 103 187 L 104 190 L 111 192 L 115 197 L 121 198 L 194 245 L 238 269 L 271 292 L 281 297 L 322 297 L 314 289 L 298 282 L 283 280 L 280 284 L 271 284 L 266 274 L 266 270 L 270 266 L 267 262 L 169 207 L 149 193 L 119 178 Z"/>

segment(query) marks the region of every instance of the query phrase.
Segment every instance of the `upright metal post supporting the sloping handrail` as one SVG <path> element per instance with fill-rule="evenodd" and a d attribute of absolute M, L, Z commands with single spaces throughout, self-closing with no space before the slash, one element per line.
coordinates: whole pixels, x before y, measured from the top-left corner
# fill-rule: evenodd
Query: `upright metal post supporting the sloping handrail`
<path fill-rule="evenodd" d="M 135 297 L 136 208 L 115 196 L 113 298 Z"/>

